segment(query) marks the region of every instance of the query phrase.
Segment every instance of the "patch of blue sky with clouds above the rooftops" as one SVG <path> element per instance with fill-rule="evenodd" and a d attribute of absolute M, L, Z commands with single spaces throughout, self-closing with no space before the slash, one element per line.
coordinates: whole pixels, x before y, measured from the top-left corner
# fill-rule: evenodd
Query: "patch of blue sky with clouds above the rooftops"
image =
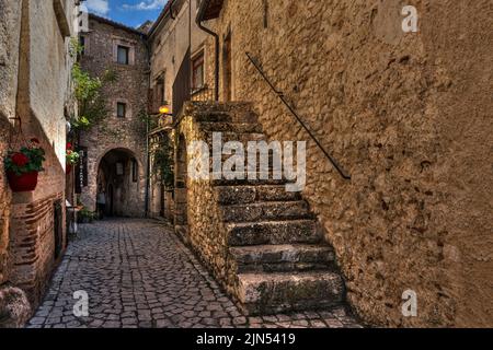
<path fill-rule="evenodd" d="M 89 12 L 137 27 L 154 21 L 168 0 L 87 0 Z"/>

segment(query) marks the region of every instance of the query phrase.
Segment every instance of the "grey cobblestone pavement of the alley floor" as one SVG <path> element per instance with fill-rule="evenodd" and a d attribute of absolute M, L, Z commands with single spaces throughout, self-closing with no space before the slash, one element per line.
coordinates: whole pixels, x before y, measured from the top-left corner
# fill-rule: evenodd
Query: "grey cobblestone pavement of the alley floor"
<path fill-rule="evenodd" d="M 150 220 L 83 225 L 30 328 L 359 327 L 343 307 L 245 317 L 172 229 Z M 89 295 L 76 317 L 73 292 Z"/>

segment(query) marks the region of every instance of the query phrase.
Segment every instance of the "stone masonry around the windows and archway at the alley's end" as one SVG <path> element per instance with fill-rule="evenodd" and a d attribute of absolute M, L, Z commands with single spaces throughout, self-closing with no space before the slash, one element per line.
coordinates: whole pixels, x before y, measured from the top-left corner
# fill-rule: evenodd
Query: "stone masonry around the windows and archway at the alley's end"
<path fill-rule="evenodd" d="M 99 125 L 81 133 L 80 143 L 88 147 L 89 186 L 82 190 L 81 200 L 90 210 L 95 210 L 98 192 L 98 172 L 100 162 L 105 154 L 115 149 L 129 151 L 139 164 L 139 180 L 130 183 L 128 208 L 126 213 L 134 217 L 145 214 L 146 191 L 146 122 L 141 112 L 146 112 L 148 92 L 147 49 L 144 38 L 134 31 L 126 31 L 118 26 L 90 18 L 90 33 L 84 34 L 88 50 L 82 57 L 82 68 L 93 77 L 103 77 L 106 70 L 114 71 L 117 80 L 105 85 L 103 95 L 107 101 L 108 115 Z M 115 43 L 123 43 L 133 47 L 134 65 L 124 66 L 115 60 Z M 130 59 L 131 60 L 131 59 Z M 127 117 L 116 116 L 116 103 L 127 104 Z"/>

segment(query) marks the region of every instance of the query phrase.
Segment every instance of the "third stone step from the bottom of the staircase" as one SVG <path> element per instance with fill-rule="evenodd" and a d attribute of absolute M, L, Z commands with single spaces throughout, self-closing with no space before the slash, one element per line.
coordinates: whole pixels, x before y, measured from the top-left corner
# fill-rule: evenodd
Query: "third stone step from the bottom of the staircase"
<path fill-rule="evenodd" d="M 314 220 L 264 221 L 226 224 L 229 246 L 319 243 Z"/>

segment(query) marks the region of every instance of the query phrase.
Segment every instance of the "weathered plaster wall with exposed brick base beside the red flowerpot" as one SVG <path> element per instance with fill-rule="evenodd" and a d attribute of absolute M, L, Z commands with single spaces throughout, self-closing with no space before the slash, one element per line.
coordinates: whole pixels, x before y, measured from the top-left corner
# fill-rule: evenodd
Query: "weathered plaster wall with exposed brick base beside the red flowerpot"
<path fill-rule="evenodd" d="M 73 3 L 66 2 L 67 13 Z M 55 256 L 55 212 L 61 206 L 65 221 L 65 106 L 69 102 L 69 38 L 62 35 L 51 2 L 23 1 L 16 113 L 28 140 L 37 138 L 46 151 L 45 171 L 36 190 L 14 194 L 11 208 L 10 281 L 28 293 L 35 306 L 66 243 L 65 224 L 59 231 L 61 252 Z M 66 18 L 72 23 L 71 18 Z M 15 144 L 14 147 L 19 147 Z"/>

